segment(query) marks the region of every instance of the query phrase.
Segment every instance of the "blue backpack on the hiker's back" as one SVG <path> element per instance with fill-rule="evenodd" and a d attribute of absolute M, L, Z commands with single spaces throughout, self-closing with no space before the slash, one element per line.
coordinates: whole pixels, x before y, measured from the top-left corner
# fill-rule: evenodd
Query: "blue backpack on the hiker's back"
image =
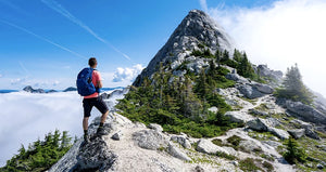
<path fill-rule="evenodd" d="M 91 81 L 92 71 L 93 68 L 87 67 L 84 68 L 77 76 L 77 91 L 82 96 L 91 95 L 97 91 Z"/>

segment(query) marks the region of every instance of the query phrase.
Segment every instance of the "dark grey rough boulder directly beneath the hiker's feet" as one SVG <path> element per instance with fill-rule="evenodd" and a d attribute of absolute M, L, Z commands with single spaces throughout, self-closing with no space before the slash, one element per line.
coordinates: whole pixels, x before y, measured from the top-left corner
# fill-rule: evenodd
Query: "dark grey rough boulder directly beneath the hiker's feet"
<path fill-rule="evenodd" d="M 82 145 L 77 155 L 78 163 L 75 171 L 113 170 L 116 159 L 117 156 L 109 150 L 106 143 L 99 137 L 95 137 L 90 143 Z"/>

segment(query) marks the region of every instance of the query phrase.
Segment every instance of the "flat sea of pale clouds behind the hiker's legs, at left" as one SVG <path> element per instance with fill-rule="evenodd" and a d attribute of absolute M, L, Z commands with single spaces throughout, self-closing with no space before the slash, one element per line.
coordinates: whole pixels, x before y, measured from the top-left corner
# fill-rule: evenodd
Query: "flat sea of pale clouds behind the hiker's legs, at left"
<path fill-rule="evenodd" d="M 4 166 L 21 144 L 28 147 L 55 129 L 68 131 L 74 138 L 83 134 L 83 97 L 77 92 L 0 94 L 0 167 Z M 100 113 L 93 108 L 89 122 Z"/>

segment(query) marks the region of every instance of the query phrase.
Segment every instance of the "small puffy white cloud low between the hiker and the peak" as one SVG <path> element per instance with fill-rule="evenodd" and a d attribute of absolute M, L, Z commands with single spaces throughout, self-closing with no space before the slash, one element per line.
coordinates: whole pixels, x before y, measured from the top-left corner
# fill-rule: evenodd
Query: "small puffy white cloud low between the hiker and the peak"
<path fill-rule="evenodd" d="M 113 76 L 113 82 L 122 82 L 122 81 L 134 81 L 135 78 L 141 72 L 143 67 L 140 64 L 137 64 L 129 67 L 118 67 Z"/>

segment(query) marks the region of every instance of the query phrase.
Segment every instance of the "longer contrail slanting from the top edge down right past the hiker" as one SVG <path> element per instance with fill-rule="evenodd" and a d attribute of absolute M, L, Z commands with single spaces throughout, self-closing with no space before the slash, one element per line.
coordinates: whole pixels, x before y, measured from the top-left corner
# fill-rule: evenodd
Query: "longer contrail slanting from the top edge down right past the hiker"
<path fill-rule="evenodd" d="M 99 35 L 97 35 L 95 31 L 92 31 L 92 29 L 90 29 L 87 25 L 85 25 L 80 19 L 76 18 L 73 14 L 71 14 L 67 10 L 65 10 L 57 1 L 54 1 L 54 0 L 41 0 L 41 1 L 46 5 L 48 5 L 49 8 L 51 8 L 52 10 L 57 11 L 58 13 L 60 13 L 61 15 L 63 15 L 64 17 L 66 17 L 67 19 L 70 19 L 71 22 L 73 22 L 73 23 L 77 24 L 78 26 L 80 26 L 82 28 L 84 28 L 86 31 L 88 31 L 90 35 L 92 35 L 99 41 L 105 43 L 106 45 L 109 45 L 110 48 L 112 48 L 114 51 L 116 51 L 120 54 L 122 54 L 125 58 L 131 61 L 128 55 L 126 55 L 125 53 L 121 52 L 118 49 L 116 49 L 114 45 L 112 45 L 109 41 L 106 41 L 105 39 L 103 39 Z"/>

